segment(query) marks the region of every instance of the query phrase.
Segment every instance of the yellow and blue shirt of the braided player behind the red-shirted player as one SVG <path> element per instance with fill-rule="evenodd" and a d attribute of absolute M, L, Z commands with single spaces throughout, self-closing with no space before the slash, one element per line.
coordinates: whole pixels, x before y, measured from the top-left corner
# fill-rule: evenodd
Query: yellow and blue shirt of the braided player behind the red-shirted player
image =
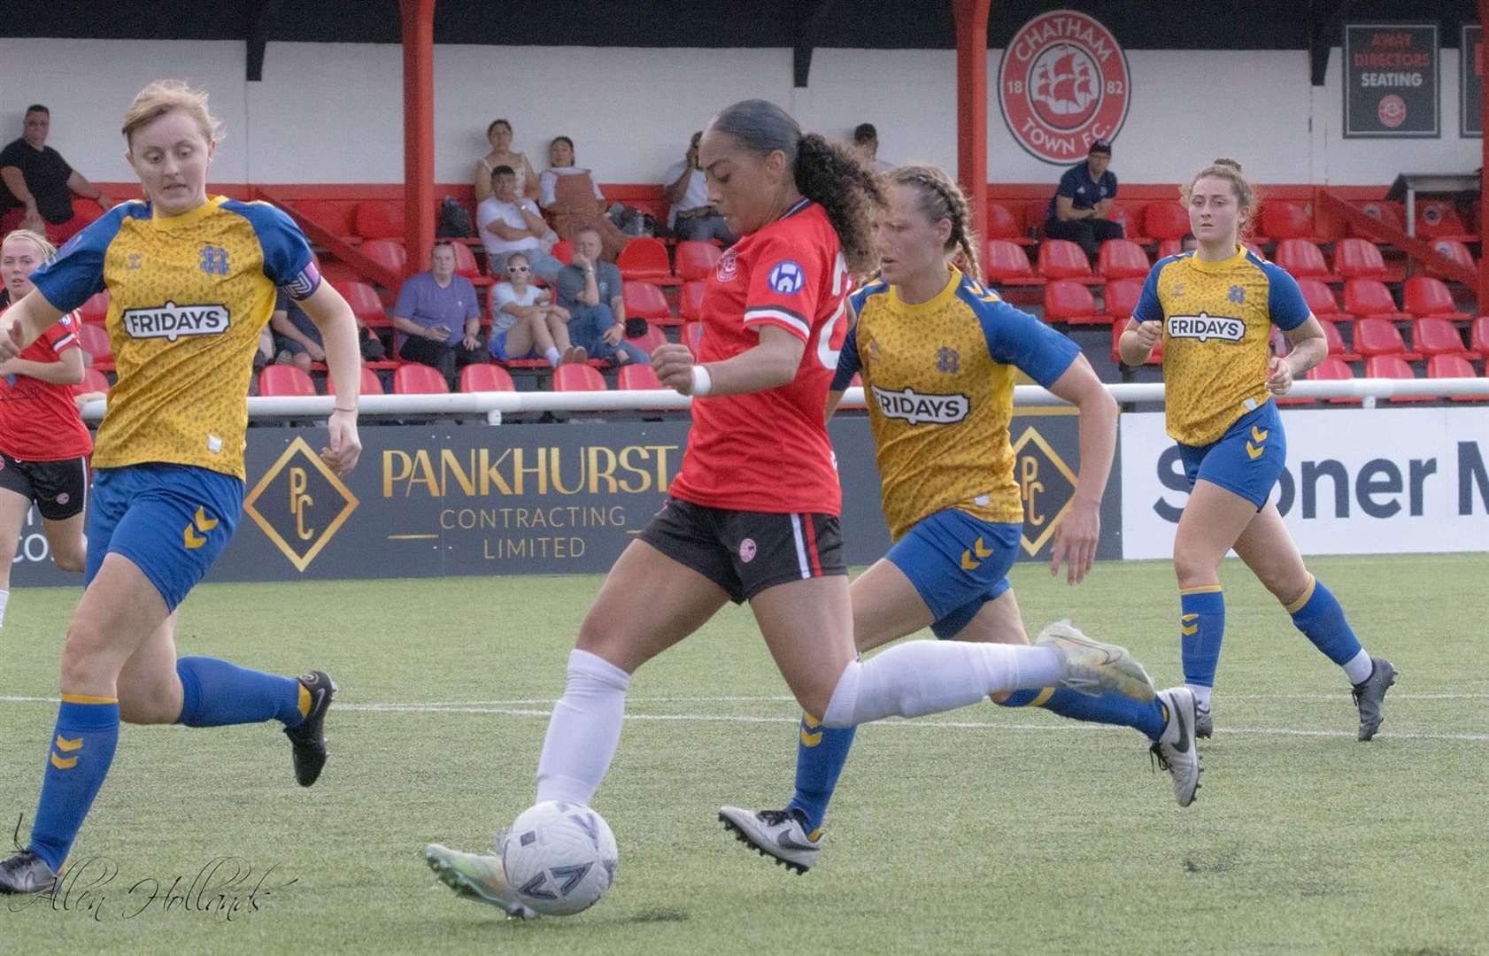
<path fill-rule="evenodd" d="M 926 302 L 911 305 L 880 280 L 852 305 L 858 325 L 832 389 L 862 372 L 890 536 L 947 508 L 1021 523 L 1008 439 L 1014 369 L 1048 387 L 1080 354 L 1075 342 L 954 268 Z"/>

